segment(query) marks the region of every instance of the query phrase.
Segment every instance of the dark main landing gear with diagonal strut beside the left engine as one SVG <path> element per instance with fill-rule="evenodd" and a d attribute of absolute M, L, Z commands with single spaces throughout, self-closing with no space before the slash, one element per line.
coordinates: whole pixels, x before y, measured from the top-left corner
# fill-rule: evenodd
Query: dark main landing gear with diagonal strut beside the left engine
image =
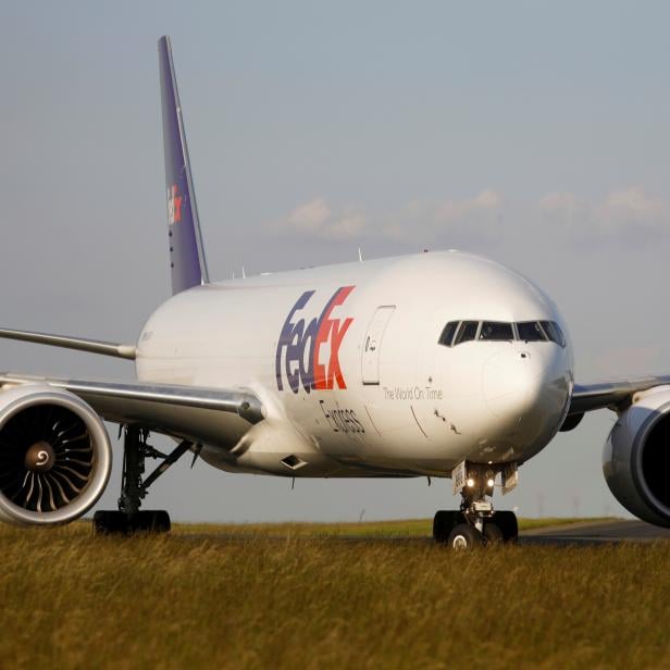
<path fill-rule="evenodd" d="M 147 444 L 149 432 L 125 426 L 123 444 L 123 472 L 119 510 L 100 510 L 94 516 L 96 533 L 166 533 L 170 531 L 170 514 L 165 510 L 140 510 L 141 499 L 156 480 L 175 463 L 186 451 L 195 449 L 191 442 L 179 443 L 170 454 L 162 454 Z M 142 480 L 145 459 L 162 459 L 162 463 Z"/>

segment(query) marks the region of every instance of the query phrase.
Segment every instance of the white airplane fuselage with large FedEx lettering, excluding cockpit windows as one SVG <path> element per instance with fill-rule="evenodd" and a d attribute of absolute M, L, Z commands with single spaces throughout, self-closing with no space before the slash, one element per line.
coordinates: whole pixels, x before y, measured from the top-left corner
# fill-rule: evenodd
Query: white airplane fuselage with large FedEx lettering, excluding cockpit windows
<path fill-rule="evenodd" d="M 328 308 L 330 303 L 330 308 Z M 448 475 L 522 462 L 554 437 L 573 385 L 570 343 L 438 344 L 451 321 L 553 321 L 553 301 L 493 261 L 456 252 L 199 286 L 138 342 L 142 381 L 251 389 L 265 421 L 202 457 L 289 476 Z"/>

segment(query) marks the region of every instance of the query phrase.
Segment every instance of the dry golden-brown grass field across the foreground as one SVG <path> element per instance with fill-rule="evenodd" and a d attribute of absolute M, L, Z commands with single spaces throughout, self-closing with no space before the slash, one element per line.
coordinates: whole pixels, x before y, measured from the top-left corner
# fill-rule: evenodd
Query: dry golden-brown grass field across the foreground
<path fill-rule="evenodd" d="M 2 526 L 0 667 L 670 667 L 670 543 L 467 555 L 429 534 Z"/>

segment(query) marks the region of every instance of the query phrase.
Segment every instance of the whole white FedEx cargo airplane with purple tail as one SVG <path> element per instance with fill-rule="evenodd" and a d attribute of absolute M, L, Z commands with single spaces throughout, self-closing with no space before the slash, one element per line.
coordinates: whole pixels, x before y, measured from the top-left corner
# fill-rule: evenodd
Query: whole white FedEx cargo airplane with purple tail
<path fill-rule="evenodd" d="M 210 282 L 172 50 L 159 40 L 173 296 L 134 345 L 0 336 L 133 360 L 135 382 L 0 375 L 0 518 L 52 525 L 104 491 L 123 429 L 119 509 L 100 532 L 165 531 L 151 484 L 191 454 L 285 477 L 450 477 L 438 543 L 513 542 L 493 507 L 520 467 L 585 412 L 609 408 L 604 472 L 633 514 L 670 526 L 670 375 L 583 385 L 551 299 L 492 260 L 444 251 Z M 150 433 L 167 435 L 169 454 Z M 158 459 L 145 475 L 145 461 Z"/>

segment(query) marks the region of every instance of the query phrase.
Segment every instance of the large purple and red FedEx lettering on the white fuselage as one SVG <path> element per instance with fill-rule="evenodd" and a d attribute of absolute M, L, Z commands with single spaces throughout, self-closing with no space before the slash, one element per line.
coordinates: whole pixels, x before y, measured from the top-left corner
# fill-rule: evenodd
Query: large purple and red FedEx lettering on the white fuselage
<path fill-rule="evenodd" d="M 355 286 L 338 288 L 319 318 L 312 319 L 306 325 L 305 319 L 294 323 L 296 313 L 301 311 L 314 295 L 314 290 L 306 290 L 293 306 L 284 322 L 275 357 L 275 374 L 277 388 L 284 390 L 284 374 L 289 388 L 298 393 L 300 385 L 307 393 L 346 388 L 345 377 L 339 367 L 339 347 L 349 326 L 353 322 L 347 319 L 331 319 L 333 310 L 342 305 Z M 330 346 L 327 363 L 322 359 L 322 346 Z M 282 365 L 282 359 L 284 365 Z"/>

